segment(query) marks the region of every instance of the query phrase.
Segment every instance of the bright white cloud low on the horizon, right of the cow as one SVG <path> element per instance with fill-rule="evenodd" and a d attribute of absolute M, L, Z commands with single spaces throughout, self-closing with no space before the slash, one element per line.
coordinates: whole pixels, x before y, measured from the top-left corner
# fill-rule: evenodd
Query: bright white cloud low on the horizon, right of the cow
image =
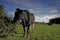
<path fill-rule="evenodd" d="M 50 19 L 60 17 L 60 14 L 54 14 L 54 15 L 45 15 L 43 17 L 35 16 L 35 22 L 44 22 L 48 23 Z"/>

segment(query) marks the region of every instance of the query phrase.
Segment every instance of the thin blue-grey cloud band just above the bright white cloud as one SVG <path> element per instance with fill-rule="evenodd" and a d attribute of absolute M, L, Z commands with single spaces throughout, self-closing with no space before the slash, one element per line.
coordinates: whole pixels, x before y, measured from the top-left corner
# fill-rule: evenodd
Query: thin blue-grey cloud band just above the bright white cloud
<path fill-rule="evenodd" d="M 51 15 L 51 14 L 59 14 L 59 10 L 56 7 L 51 8 L 35 8 L 35 9 L 28 9 L 31 13 L 36 15 Z"/>

